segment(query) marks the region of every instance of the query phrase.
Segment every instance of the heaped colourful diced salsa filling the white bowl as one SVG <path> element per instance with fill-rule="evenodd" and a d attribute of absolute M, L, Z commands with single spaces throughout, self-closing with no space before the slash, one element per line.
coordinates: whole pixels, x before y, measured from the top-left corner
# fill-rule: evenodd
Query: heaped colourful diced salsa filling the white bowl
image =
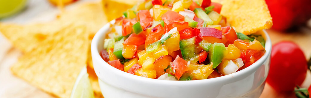
<path fill-rule="evenodd" d="M 119 70 L 152 79 L 209 79 L 243 70 L 265 53 L 265 40 L 236 32 L 219 14 L 221 6 L 140 1 L 115 19 L 100 55 Z"/>

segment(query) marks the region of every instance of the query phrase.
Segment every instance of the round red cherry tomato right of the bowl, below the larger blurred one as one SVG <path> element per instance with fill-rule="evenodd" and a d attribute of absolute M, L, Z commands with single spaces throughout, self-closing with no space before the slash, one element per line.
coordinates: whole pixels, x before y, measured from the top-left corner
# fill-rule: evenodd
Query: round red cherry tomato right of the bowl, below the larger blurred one
<path fill-rule="evenodd" d="M 298 45 L 283 41 L 272 46 L 267 83 L 276 91 L 293 91 L 304 82 L 306 74 L 307 60 Z"/>

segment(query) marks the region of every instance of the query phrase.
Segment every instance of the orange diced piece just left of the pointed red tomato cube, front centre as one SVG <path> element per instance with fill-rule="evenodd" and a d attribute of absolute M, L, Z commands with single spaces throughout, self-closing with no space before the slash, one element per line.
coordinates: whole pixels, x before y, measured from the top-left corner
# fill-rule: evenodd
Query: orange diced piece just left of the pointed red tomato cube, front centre
<path fill-rule="evenodd" d="M 165 69 L 167 66 L 170 65 L 169 62 L 172 62 L 172 61 L 173 61 L 172 56 L 165 55 L 165 56 L 160 56 L 158 59 L 156 59 L 155 62 L 153 62 L 153 64 L 155 65 L 155 67 Z"/>

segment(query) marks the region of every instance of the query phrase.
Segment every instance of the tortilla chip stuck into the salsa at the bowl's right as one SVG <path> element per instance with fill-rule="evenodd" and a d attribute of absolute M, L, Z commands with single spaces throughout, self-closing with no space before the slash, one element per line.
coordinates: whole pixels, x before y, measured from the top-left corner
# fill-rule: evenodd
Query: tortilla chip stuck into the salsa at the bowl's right
<path fill-rule="evenodd" d="M 235 27 L 236 32 L 252 34 L 272 26 L 272 17 L 265 0 L 227 0 L 220 14 Z"/>

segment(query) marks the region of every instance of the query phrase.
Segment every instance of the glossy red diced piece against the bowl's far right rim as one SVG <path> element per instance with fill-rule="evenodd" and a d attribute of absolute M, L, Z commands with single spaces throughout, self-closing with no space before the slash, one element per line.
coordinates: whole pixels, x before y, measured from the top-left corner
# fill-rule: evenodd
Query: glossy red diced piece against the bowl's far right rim
<path fill-rule="evenodd" d="M 248 66 L 252 65 L 259 58 L 261 58 L 264 53 L 265 53 L 265 51 L 247 49 L 246 54 L 245 54 L 246 55 L 245 66 L 248 67 Z"/>

